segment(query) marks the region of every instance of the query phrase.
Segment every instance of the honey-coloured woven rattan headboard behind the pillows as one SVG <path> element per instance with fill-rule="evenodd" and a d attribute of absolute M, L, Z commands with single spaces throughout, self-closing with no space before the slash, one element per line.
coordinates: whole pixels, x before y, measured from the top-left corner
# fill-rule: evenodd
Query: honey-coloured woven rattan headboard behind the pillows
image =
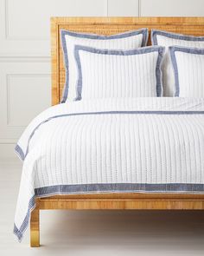
<path fill-rule="evenodd" d="M 193 36 L 204 36 L 204 17 L 52 17 L 52 104 L 61 100 L 65 68 L 61 50 L 61 29 L 112 35 L 148 28 Z M 150 36 L 149 36 L 150 45 Z"/>

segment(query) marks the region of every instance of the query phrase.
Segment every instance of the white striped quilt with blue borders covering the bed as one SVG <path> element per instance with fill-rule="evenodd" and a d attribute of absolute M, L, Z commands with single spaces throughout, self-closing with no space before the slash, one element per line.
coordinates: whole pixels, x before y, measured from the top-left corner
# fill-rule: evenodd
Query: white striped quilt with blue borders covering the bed
<path fill-rule="evenodd" d="M 35 196 L 204 193 L 204 99 L 124 98 L 48 108 L 26 128 L 16 205 L 19 240 Z"/>

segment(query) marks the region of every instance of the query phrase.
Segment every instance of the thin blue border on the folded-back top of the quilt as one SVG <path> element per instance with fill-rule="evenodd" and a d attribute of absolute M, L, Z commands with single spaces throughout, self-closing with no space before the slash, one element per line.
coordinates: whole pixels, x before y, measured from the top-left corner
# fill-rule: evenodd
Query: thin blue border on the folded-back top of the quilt
<path fill-rule="evenodd" d="M 204 110 L 203 111 L 167 111 L 167 110 L 162 110 L 162 111 L 102 111 L 102 112 L 80 112 L 80 113 L 71 113 L 71 114 L 63 114 L 63 115 L 54 115 L 52 117 L 49 117 L 48 119 L 41 121 L 33 130 L 33 132 L 29 135 L 29 141 L 28 141 L 28 146 L 26 149 L 26 153 L 24 154 L 22 151 L 22 148 L 20 148 L 19 145 L 16 145 L 17 148 L 19 148 L 19 151 L 22 152 L 20 156 L 22 155 L 23 157 L 21 158 L 22 161 L 26 158 L 27 154 L 29 154 L 29 142 L 32 139 L 33 135 L 35 135 L 35 131 L 41 127 L 42 124 L 51 121 L 55 118 L 61 118 L 65 116 L 74 116 L 74 115 L 121 115 L 121 114 L 126 114 L 126 115 L 204 115 Z M 18 152 L 16 152 L 18 154 Z M 18 154 L 19 155 L 19 154 Z"/>

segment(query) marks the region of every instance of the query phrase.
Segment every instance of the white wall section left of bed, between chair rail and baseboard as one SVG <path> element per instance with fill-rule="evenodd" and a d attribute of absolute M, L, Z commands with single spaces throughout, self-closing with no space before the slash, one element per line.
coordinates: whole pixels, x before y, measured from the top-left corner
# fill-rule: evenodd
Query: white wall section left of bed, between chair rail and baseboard
<path fill-rule="evenodd" d="M 0 143 L 16 143 L 29 121 L 51 105 L 49 58 L 2 57 L 0 81 Z"/>

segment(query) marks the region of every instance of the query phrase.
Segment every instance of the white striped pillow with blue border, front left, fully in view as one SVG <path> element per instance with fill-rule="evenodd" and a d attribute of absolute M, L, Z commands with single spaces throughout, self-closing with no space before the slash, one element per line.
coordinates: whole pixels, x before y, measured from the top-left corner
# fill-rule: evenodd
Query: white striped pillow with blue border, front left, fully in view
<path fill-rule="evenodd" d="M 117 50 L 76 45 L 74 51 L 79 70 L 76 100 L 163 94 L 163 47 Z"/>

